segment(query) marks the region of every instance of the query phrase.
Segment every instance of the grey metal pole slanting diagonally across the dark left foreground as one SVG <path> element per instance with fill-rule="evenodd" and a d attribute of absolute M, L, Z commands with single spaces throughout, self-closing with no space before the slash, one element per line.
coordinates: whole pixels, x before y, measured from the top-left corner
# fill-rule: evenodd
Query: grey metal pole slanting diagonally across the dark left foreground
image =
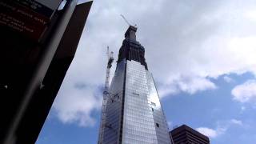
<path fill-rule="evenodd" d="M 25 92 L 22 95 L 23 99 L 18 106 L 17 112 L 14 114 L 14 119 L 10 122 L 10 126 L 6 130 L 6 137 L 3 140 L 3 144 L 14 144 L 16 142 L 15 132 L 18 129 L 18 125 L 22 120 L 23 115 L 26 112 L 26 108 L 30 103 L 34 92 L 42 87 L 42 80 L 46 75 L 46 71 L 50 66 L 50 62 L 54 58 L 54 54 L 58 48 L 58 44 L 61 41 L 62 34 L 66 30 L 66 26 L 70 21 L 70 18 L 74 12 L 74 8 L 77 4 L 77 0 L 68 0 L 63 8 L 63 13 L 60 16 L 60 21 L 57 23 L 57 29 L 50 35 L 50 42 L 46 44 L 45 50 L 42 52 L 42 57 L 38 60 L 38 65 L 35 67 L 33 76 L 30 78 L 29 84 L 26 86 Z"/>

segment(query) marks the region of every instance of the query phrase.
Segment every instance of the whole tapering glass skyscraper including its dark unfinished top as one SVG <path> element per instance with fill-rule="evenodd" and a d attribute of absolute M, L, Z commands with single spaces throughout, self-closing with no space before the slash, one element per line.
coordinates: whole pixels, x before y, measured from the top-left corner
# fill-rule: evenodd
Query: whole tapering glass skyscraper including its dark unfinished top
<path fill-rule="evenodd" d="M 144 58 L 145 49 L 130 26 L 118 54 L 106 98 L 102 144 L 170 144 L 168 126 Z"/>

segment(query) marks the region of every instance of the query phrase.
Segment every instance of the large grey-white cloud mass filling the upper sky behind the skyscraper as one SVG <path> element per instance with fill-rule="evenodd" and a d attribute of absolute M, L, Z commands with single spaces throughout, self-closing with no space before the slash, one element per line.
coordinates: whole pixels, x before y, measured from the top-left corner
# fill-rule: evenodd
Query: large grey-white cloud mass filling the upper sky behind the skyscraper
<path fill-rule="evenodd" d="M 145 46 L 160 97 L 214 90 L 218 86 L 211 79 L 223 74 L 256 74 L 253 6 L 254 0 L 94 1 L 54 102 L 58 118 L 80 124 L 95 122 L 92 112 L 101 106 L 97 87 L 105 81 L 106 46 L 117 58 L 128 27 L 120 14 L 138 25 L 137 38 Z M 112 74 L 114 69 L 115 64 Z M 75 88 L 78 82 L 86 87 Z"/>

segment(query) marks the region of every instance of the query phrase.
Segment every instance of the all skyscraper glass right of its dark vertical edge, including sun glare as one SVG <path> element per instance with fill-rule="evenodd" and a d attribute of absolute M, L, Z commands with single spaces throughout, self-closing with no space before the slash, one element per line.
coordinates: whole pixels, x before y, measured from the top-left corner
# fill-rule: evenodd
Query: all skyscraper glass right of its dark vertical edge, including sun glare
<path fill-rule="evenodd" d="M 126 61 L 122 143 L 170 143 L 152 75 L 140 62 Z"/>

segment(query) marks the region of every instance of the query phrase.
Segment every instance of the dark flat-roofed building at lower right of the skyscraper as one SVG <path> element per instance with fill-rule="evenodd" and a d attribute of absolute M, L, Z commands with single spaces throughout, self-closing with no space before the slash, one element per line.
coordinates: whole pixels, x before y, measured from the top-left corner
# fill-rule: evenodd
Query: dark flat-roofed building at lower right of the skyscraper
<path fill-rule="evenodd" d="M 172 137 L 174 144 L 210 144 L 208 137 L 186 125 L 171 130 L 170 137 Z"/>

